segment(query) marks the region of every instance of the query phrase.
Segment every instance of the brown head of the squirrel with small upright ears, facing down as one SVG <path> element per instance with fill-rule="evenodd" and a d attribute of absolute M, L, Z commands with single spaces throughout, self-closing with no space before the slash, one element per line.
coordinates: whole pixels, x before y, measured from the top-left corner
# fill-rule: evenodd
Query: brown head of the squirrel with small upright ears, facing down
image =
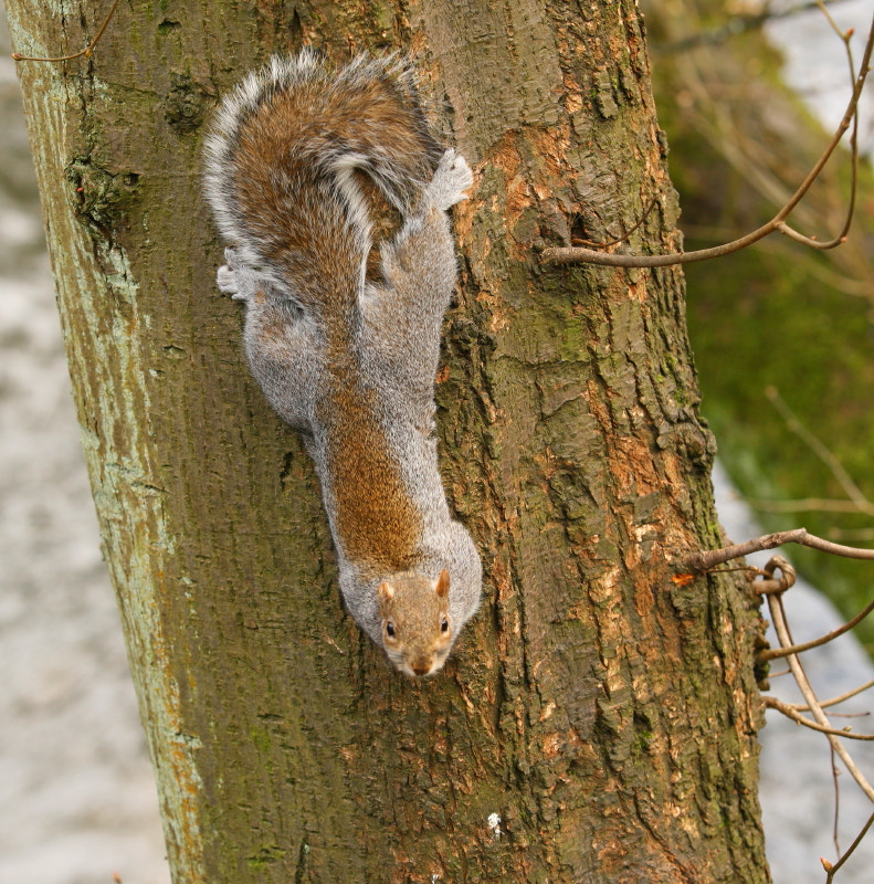
<path fill-rule="evenodd" d="M 413 572 L 393 575 L 377 589 L 382 646 L 406 675 L 432 675 L 443 667 L 455 639 L 449 611 L 449 571 L 436 580 Z"/>

